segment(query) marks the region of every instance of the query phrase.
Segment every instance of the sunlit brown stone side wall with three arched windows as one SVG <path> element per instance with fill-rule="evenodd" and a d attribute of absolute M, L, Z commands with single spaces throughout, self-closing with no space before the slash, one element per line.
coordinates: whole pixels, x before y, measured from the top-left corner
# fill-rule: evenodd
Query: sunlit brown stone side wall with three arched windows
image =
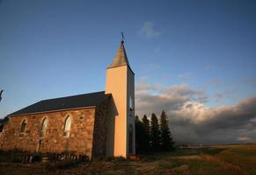
<path fill-rule="evenodd" d="M 71 117 L 70 134 L 69 137 L 63 137 L 67 116 Z M 91 158 L 94 116 L 94 108 L 11 116 L 2 133 L 0 149 L 55 153 L 69 151 L 86 154 Z M 46 134 L 40 137 L 41 124 L 45 118 L 48 119 Z M 19 137 L 21 123 L 25 119 L 27 123 L 25 135 Z M 40 140 L 41 144 L 39 144 Z"/>

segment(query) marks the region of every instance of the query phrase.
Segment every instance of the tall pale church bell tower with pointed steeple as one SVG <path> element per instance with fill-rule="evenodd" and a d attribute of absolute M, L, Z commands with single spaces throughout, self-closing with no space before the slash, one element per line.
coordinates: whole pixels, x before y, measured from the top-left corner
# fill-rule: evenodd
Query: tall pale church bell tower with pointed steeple
<path fill-rule="evenodd" d="M 113 63 L 106 68 L 106 94 L 112 95 L 106 130 L 106 156 L 135 154 L 135 73 L 121 40 Z"/>

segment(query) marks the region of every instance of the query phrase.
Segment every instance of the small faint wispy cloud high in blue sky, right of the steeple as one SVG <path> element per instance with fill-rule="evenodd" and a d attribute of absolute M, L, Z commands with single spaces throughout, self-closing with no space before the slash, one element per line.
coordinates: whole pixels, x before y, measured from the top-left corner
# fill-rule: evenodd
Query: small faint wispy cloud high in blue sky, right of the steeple
<path fill-rule="evenodd" d="M 144 22 L 143 27 L 140 31 L 143 37 L 154 38 L 161 35 L 161 32 L 156 31 L 155 25 L 152 22 Z"/>

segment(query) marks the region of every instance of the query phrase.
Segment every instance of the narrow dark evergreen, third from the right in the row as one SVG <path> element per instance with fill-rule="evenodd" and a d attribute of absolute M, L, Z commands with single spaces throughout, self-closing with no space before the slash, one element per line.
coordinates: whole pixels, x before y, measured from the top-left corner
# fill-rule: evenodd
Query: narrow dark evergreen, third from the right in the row
<path fill-rule="evenodd" d="M 144 137 L 143 137 L 143 151 L 150 151 L 150 121 L 146 115 L 143 116 L 143 127 L 144 127 Z"/>

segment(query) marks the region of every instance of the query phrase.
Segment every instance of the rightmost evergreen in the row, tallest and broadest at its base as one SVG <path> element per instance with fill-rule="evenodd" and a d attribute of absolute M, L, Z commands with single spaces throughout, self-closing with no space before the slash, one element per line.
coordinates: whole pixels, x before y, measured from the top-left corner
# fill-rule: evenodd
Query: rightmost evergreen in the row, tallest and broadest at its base
<path fill-rule="evenodd" d="M 171 151 L 173 148 L 173 142 L 171 137 L 171 132 L 168 126 L 167 116 L 165 114 L 165 110 L 162 111 L 162 115 L 160 118 L 160 130 L 161 130 L 161 148 L 163 151 Z"/>

